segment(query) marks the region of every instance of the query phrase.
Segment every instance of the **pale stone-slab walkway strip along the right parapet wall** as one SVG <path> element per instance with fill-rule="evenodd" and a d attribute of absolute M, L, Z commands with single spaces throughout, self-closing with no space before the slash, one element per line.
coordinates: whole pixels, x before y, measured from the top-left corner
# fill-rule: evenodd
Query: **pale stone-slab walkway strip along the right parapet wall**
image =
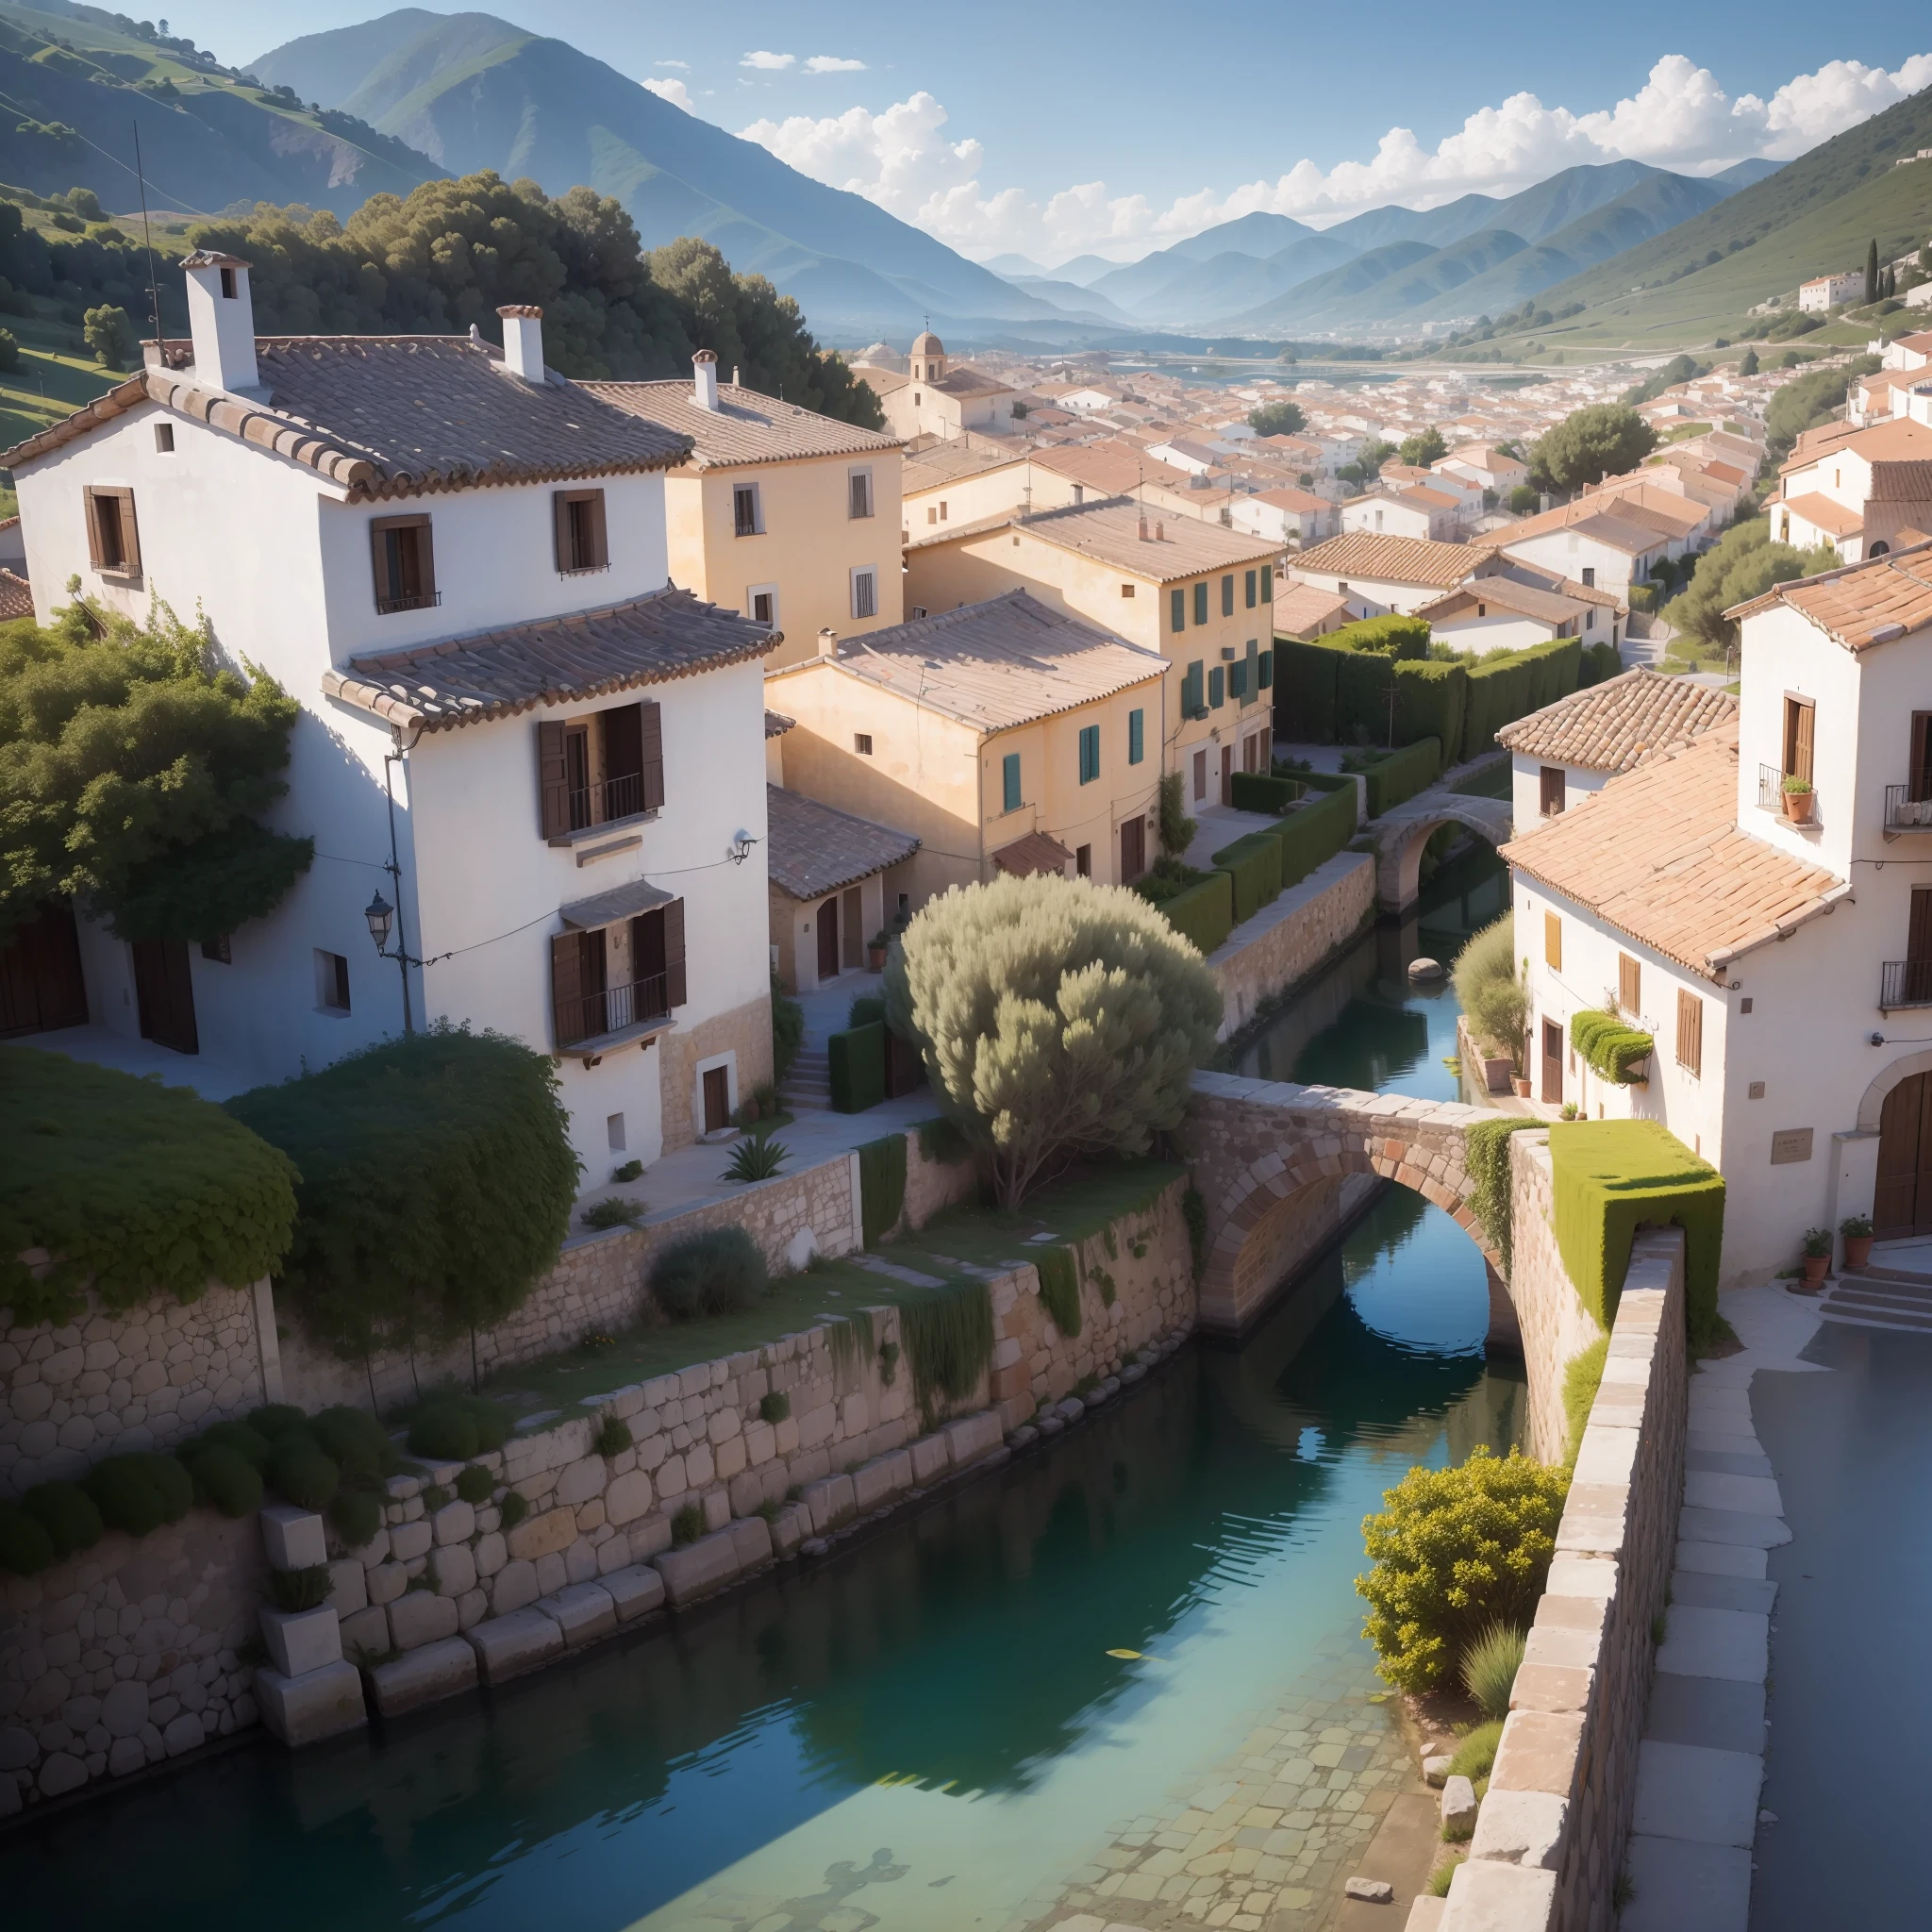
<path fill-rule="evenodd" d="M 1799 1350 L 1816 1335 L 1818 1312 L 1781 1287 L 1743 1289 L 1721 1306 L 1745 1349 L 1702 1362 L 1690 1378 L 1685 1499 L 1638 1748 L 1633 1897 L 1619 1932 L 1750 1926 L 1777 1600 L 1768 1553 L 1791 1542 L 1783 1493 L 1752 1426 L 1750 1379 L 1758 1370 L 1816 1368 Z"/>

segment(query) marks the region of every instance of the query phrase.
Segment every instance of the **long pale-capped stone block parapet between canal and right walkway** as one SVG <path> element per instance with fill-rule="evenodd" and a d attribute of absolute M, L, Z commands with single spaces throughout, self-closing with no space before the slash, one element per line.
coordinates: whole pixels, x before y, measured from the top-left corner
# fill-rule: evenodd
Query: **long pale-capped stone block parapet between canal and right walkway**
<path fill-rule="evenodd" d="M 1631 1254 L 1557 1555 L 1441 1932 L 1613 1932 L 1652 1619 L 1683 1499 L 1685 1391 L 1683 1233 L 1654 1229 Z"/>

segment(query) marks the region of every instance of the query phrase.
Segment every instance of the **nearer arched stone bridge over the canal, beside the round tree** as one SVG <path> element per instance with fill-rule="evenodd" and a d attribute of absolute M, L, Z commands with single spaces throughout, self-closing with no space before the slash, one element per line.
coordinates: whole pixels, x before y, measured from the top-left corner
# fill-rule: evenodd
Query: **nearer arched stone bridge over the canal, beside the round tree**
<path fill-rule="evenodd" d="M 1378 1179 L 1455 1215 L 1490 1264 L 1493 1318 L 1513 1327 L 1468 1204 L 1464 1134 L 1482 1119 L 1493 1115 L 1455 1101 L 1198 1072 L 1180 1138 L 1208 1204 L 1202 1327 L 1244 1329 Z"/>

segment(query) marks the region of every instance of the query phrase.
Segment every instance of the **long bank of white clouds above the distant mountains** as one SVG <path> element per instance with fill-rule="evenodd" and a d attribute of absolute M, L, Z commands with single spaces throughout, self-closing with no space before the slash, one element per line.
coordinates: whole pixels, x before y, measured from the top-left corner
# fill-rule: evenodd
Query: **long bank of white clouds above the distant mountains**
<path fill-rule="evenodd" d="M 753 62 L 779 66 L 790 56 L 746 56 Z M 800 172 L 867 195 L 970 255 L 1018 249 L 1063 259 L 1092 249 L 1128 259 L 1258 209 L 1325 226 L 1387 201 L 1435 207 L 1466 193 L 1509 195 L 1582 162 L 1629 158 L 1708 174 L 1752 155 L 1787 160 L 1926 85 L 1932 54 L 1913 54 L 1889 73 L 1833 60 L 1762 100 L 1727 95 L 1708 68 L 1665 54 L 1634 95 L 1609 108 L 1577 114 L 1530 93 L 1511 95 L 1478 108 L 1434 149 L 1408 128 L 1391 128 L 1370 160 L 1327 170 L 1298 160 L 1275 180 L 1202 187 L 1167 207 L 1111 195 L 1105 182 L 1043 199 L 1018 187 L 987 193 L 981 143 L 949 139 L 945 106 L 923 91 L 881 114 L 794 114 L 742 131 Z"/>

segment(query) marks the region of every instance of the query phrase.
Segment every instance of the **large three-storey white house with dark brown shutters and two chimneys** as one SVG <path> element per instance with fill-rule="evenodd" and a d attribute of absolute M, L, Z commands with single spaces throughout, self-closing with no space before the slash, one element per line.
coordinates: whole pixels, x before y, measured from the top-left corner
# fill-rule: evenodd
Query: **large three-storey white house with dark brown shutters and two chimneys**
<path fill-rule="evenodd" d="M 247 263 L 184 267 L 191 342 L 0 462 L 43 622 L 70 578 L 135 620 L 199 609 L 299 703 L 272 823 L 315 860 L 199 945 L 81 908 L 87 1026 L 31 1037 L 147 1041 L 226 1094 L 497 1028 L 554 1057 L 593 1184 L 724 1126 L 771 1072 L 775 638 L 667 582 L 688 439 L 549 371 L 535 309 L 500 311 L 502 352 L 257 338 Z M 375 951 L 377 895 L 410 964 Z"/>

